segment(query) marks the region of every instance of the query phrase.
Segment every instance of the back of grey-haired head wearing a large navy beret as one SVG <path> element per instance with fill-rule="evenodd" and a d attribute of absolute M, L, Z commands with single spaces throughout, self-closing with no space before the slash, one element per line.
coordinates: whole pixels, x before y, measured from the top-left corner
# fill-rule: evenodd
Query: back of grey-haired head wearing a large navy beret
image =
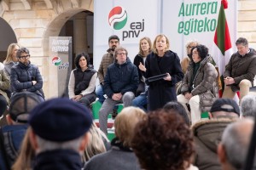
<path fill-rule="evenodd" d="M 36 151 L 71 149 L 80 152 L 88 142 L 92 116 L 84 105 L 56 98 L 35 107 L 28 122 L 32 127 L 31 142 Z M 80 144 L 83 146 L 79 147 Z"/>

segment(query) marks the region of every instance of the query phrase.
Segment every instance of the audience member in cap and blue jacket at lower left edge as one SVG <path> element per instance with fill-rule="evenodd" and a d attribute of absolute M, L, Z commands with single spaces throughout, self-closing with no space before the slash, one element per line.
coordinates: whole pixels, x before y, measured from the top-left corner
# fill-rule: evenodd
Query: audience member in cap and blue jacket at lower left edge
<path fill-rule="evenodd" d="M 13 165 L 28 127 L 29 113 L 40 104 L 38 95 L 31 92 L 15 94 L 10 102 L 6 116 L 9 125 L 0 130 L 0 169 L 10 169 Z"/>

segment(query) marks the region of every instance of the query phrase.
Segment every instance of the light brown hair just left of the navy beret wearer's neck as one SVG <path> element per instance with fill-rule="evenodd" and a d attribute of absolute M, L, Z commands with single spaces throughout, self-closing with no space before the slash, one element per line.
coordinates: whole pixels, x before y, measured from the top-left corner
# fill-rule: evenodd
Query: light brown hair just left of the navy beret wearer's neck
<path fill-rule="evenodd" d="M 35 157 L 35 151 L 32 148 L 32 144 L 29 140 L 29 133 L 32 131 L 31 127 L 28 127 L 22 143 L 20 145 L 19 155 L 12 166 L 12 170 L 27 170 L 32 169 L 32 159 Z"/>

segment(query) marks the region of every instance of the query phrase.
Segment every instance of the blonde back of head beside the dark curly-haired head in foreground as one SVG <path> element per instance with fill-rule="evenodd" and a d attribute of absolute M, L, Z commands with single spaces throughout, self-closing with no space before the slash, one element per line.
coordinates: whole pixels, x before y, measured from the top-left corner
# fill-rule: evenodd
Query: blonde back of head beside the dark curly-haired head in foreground
<path fill-rule="evenodd" d="M 125 107 L 114 120 L 114 132 L 116 137 L 126 147 L 131 146 L 134 128 L 137 122 L 143 120 L 146 113 L 137 107 Z"/>

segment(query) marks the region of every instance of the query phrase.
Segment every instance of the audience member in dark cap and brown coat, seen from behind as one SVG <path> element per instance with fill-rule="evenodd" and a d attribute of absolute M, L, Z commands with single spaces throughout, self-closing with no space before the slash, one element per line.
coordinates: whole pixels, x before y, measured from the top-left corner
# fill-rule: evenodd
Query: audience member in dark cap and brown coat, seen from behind
<path fill-rule="evenodd" d="M 239 106 L 233 99 L 217 99 L 209 112 L 210 120 L 195 123 L 195 166 L 200 170 L 221 170 L 217 148 L 224 128 L 239 119 Z"/>

